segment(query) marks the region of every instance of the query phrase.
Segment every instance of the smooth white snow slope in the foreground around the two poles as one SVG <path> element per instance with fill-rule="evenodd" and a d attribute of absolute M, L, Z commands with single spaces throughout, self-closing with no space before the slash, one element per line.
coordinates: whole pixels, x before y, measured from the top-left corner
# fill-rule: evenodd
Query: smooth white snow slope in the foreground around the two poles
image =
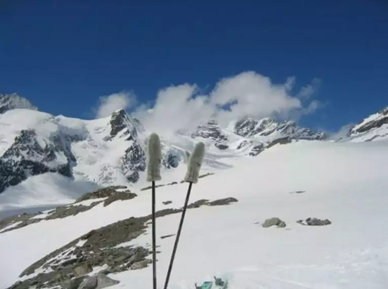
<path fill-rule="evenodd" d="M 388 142 L 298 141 L 275 145 L 256 158 L 201 178 L 190 202 L 226 197 L 226 206 L 189 209 L 169 288 L 228 276 L 230 289 L 382 289 L 388 285 Z M 177 169 L 184 175 L 184 168 Z M 164 179 L 162 181 L 164 183 Z M 157 189 L 157 210 L 183 205 L 187 184 Z M 293 194 L 295 191 L 305 191 Z M 0 234 L 0 287 L 27 266 L 91 229 L 151 212 L 151 191 L 102 204 L 64 219 Z M 162 201 L 172 200 L 169 205 Z M 257 222 L 277 216 L 286 228 Z M 296 221 L 316 217 L 331 225 Z M 158 287 L 162 288 L 180 214 L 157 219 Z M 133 244 L 151 243 L 151 228 Z M 124 244 L 121 244 L 124 245 Z M 6 248 L 6 249 L 4 249 Z M 10 261 L 12 260 L 12 262 Z M 149 289 L 152 267 L 111 274 L 112 289 Z"/>

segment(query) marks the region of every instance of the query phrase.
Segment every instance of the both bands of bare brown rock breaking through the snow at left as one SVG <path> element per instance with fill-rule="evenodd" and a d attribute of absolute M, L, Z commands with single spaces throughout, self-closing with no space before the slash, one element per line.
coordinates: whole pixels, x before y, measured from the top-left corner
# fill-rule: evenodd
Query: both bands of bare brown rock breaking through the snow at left
<path fill-rule="evenodd" d="M 81 196 L 75 203 L 55 210 L 39 214 L 22 214 L 0 222 L 1 233 L 58 218 L 67 218 L 86 210 L 93 209 L 103 203 L 109 206 L 115 201 L 130 201 L 137 195 L 131 193 L 126 187 L 109 187 Z M 90 201 L 92 201 L 90 203 Z M 88 205 L 86 205 L 86 203 Z M 188 205 L 189 209 L 201 206 L 224 206 L 238 202 L 233 197 L 209 201 L 197 200 Z M 65 210 L 63 210 L 65 209 Z M 166 208 L 157 211 L 160 218 L 165 215 L 180 213 L 182 208 Z M 31 264 L 19 277 L 23 279 L 14 283 L 10 288 L 24 289 L 34 286 L 36 288 L 78 288 L 78 285 L 88 273 L 94 269 L 100 274 L 112 274 L 127 270 L 137 270 L 147 267 L 151 261 L 147 259 L 152 253 L 146 246 L 125 245 L 130 240 L 145 234 L 151 215 L 124 219 L 110 225 L 97 228 L 83 234 L 79 238 L 61 246 L 47 256 Z M 172 236 L 172 235 L 170 235 Z M 170 236 L 161 236 L 166 238 Z"/>

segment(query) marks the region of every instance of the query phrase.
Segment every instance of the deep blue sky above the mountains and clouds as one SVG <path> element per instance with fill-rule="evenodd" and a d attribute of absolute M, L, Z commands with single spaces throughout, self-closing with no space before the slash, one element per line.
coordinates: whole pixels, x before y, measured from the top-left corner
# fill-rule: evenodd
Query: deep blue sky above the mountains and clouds
<path fill-rule="evenodd" d="M 170 85 L 209 93 L 255 71 L 319 100 L 300 123 L 337 130 L 388 105 L 388 2 L 14 0 L 0 4 L 0 93 L 93 118 L 99 97 L 138 103 Z M 173 99 L 173 98 L 168 98 Z"/>

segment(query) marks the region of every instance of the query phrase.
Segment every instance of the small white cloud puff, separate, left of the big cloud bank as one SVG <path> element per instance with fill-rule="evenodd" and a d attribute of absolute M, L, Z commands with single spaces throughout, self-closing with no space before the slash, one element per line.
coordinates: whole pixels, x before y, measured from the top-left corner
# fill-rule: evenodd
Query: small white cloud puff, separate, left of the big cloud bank
<path fill-rule="evenodd" d="M 101 96 L 99 98 L 98 107 L 95 109 L 96 117 L 108 117 L 116 110 L 127 109 L 128 107 L 134 105 L 135 102 L 135 96 L 128 92 L 119 92 L 108 96 Z"/>

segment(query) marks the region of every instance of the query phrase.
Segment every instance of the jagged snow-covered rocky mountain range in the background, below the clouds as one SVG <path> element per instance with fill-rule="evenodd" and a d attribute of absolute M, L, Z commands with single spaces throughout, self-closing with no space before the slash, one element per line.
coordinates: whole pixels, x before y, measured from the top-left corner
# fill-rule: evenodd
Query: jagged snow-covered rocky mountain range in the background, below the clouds
<path fill-rule="evenodd" d="M 114 112 L 109 118 L 90 121 L 54 117 L 38 112 L 36 106 L 16 94 L 0 95 L 0 110 L 0 125 L 11 128 L 15 135 L 13 141 L 2 143 L 8 131 L 0 131 L 0 149 L 4 152 L 0 156 L 0 193 L 30 176 L 46 172 L 81 177 L 102 187 L 136 184 L 144 176 L 149 132 L 124 110 Z M 20 118 L 30 118 L 31 122 L 17 127 L 14 122 L 18 113 Z M 350 136 L 385 128 L 387 122 L 388 108 L 352 128 Z M 293 121 L 246 117 L 228 128 L 210 120 L 185 137 L 192 143 L 206 143 L 207 151 L 213 154 L 207 161 L 211 166 L 212 160 L 223 154 L 257 156 L 277 143 L 325 140 L 328 135 L 301 128 Z M 162 149 L 164 170 L 177 168 L 184 162 L 187 149 L 179 139 L 172 143 L 162 138 Z"/>

